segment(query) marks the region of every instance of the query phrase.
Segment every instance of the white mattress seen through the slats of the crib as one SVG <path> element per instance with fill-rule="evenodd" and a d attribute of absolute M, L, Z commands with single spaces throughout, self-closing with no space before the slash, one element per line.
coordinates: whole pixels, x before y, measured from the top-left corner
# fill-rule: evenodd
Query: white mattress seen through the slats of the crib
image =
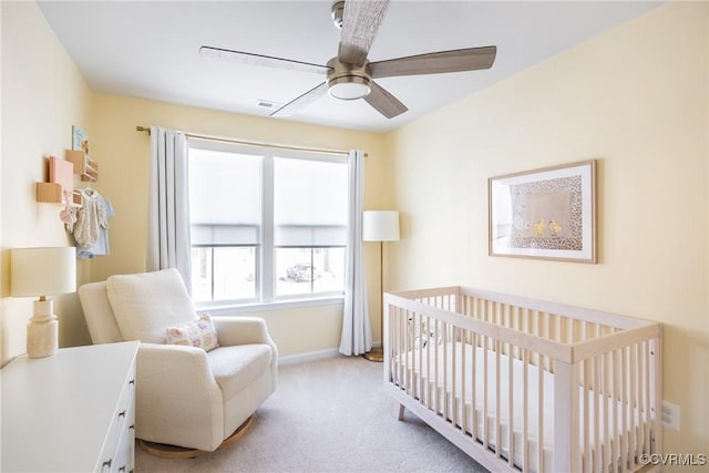
<path fill-rule="evenodd" d="M 485 351 L 487 351 L 486 372 Z M 453 362 L 454 357 L 455 362 Z M 476 373 L 474 380 L 472 376 L 473 358 L 474 372 Z M 510 363 L 510 357 L 506 354 L 500 354 L 499 358 L 499 380 L 495 374 L 497 372 L 496 352 L 460 341 L 429 345 L 421 350 L 417 349 L 408 352 L 405 357 L 398 357 L 394 361 L 401 363 L 401 372 L 405 373 L 401 377 L 400 387 L 407 389 L 420 402 L 435 410 L 438 414 L 446 417 L 450 422 L 465 433 L 471 434 L 483 444 L 486 443 L 492 450 L 496 451 L 497 443 L 500 443 L 501 455 L 504 457 L 508 457 L 510 454 L 510 428 L 512 425 L 513 456 L 517 467 L 524 466 L 523 449 L 525 446 L 524 429 L 526 422 L 527 467 L 531 471 L 547 470 L 552 465 L 554 453 L 554 374 L 547 370 L 542 370 L 540 376 L 540 369 L 536 366 L 526 363 L 527 388 L 525 391 L 525 363 L 514 357 L 512 358 L 512 363 Z M 510 373 L 511 364 L 512 373 Z M 463 366 L 465 367 L 464 370 L 462 370 Z M 462 374 L 463 371 L 465 374 Z M 487 376 L 486 401 L 485 374 Z M 407 388 L 407 384 L 409 388 Z M 512 397 L 510 395 L 510 385 L 512 385 Z M 497 389 L 500 390 L 499 400 L 496 397 Z M 585 391 L 579 388 L 579 405 L 582 405 L 582 409 L 584 405 L 584 392 L 590 392 L 590 394 L 587 394 L 589 395 L 589 419 L 593 419 L 594 415 L 595 397 L 598 398 L 598 405 L 602 405 L 604 412 L 605 409 L 613 409 L 610 398 L 605 397 L 604 401 L 602 394 L 595 394 L 593 391 Z M 542 409 L 540 409 L 540 399 L 542 399 Z M 511 402 L 512 422 L 510 421 Z M 526 421 L 524 415 L 525 402 L 527 405 Z M 605 407 L 603 407 L 604 402 L 606 403 Z M 497 435 L 497 411 L 500 411 L 500 435 Z M 540 417 L 540 412 L 543 412 L 543 417 Z M 616 425 L 623 425 L 620 421 L 621 412 L 620 409 L 617 409 Z M 635 417 L 635 425 L 639 425 L 640 415 L 637 409 L 634 410 L 633 415 Z M 486 423 L 485 419 L 487 419 Z M 613 428 L 613 425 L 610 426 Z M 604 417 L 600 417 L 598 428 L 603 439 L 603 433 L 606 432 Z M 583 431 L 580 435 L 583 444 Z M 595 436 L 594 425 L 589 425 L 592 451 L 595 449 Z M 540 452 L 543 454 L 542 469 L 540 469 L 538 461 Z M 593 461 L 593 457 L 589 461 Z"/>

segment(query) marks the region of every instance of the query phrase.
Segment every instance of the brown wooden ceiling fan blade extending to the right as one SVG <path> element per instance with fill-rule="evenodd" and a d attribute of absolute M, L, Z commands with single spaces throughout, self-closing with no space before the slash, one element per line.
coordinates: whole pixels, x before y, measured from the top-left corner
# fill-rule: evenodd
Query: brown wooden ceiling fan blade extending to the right
<path fill-rule="evenodd" d="M 369 68 L 373 79 L 477 71 L 492 68 L 496 54 L 496 47 L 467 48 L 372 62 Z"/>

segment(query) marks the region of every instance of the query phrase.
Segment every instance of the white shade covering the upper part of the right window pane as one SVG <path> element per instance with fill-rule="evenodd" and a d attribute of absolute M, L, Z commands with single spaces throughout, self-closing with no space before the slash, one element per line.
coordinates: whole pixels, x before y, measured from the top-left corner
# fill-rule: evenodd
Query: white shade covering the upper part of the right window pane
<path fill-rule="evenodd" d="M 274 244 L 290 247 L 347 245 L 347 165 L 274 160 Z"/>

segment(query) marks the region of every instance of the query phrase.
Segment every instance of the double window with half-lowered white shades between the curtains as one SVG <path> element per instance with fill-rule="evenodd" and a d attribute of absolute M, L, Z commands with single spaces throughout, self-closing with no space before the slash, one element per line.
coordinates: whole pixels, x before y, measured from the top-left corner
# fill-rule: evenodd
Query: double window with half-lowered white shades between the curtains
<path fill-rule="evenodd" d="M 343 294 L 345 156 L 191 140 L 188 160 L 197 304 Z"/>

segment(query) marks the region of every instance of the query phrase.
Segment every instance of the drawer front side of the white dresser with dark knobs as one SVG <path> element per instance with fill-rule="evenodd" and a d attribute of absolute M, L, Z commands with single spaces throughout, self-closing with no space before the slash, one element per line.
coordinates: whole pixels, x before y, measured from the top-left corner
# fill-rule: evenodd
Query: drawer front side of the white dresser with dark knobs
<path fill-rule="evenodd" d="M 101 472 L 133 470 L 133 441 L 135 438 L 135 363 L 123 387 L 119 405 L 101 453 Z"/>

